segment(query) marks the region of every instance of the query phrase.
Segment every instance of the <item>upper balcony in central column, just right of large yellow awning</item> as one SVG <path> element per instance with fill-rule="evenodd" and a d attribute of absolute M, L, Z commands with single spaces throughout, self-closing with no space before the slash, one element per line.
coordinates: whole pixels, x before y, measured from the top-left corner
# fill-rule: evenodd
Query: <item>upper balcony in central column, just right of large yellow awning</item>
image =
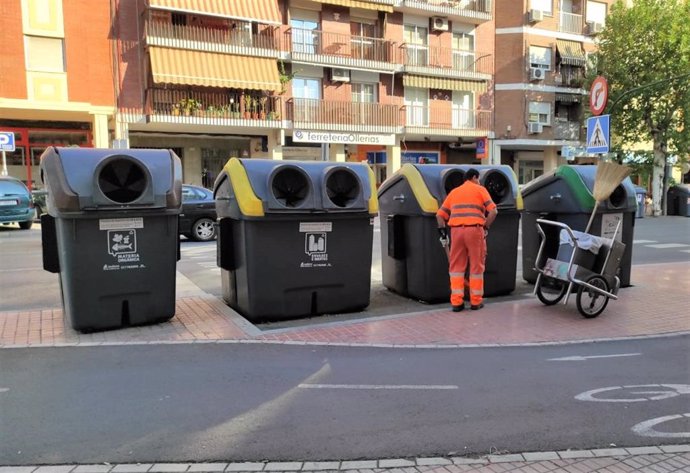
<path fill-rule="evenodd" d="M 293 61 L 389 73 L 400 68 L 392 41 L 301 28 L 285 34 Z"/>

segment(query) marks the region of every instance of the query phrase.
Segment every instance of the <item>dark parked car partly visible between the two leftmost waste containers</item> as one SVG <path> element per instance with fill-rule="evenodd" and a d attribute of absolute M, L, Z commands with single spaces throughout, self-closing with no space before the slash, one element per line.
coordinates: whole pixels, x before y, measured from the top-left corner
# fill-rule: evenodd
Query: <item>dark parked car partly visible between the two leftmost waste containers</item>
<path fill-rule="evenodd" d="M 180 234 L 196 241 L 209 241 L 216 237 L 216 201 L 213 192 L 203 187 L 182 185 L 182 212 Z"/>

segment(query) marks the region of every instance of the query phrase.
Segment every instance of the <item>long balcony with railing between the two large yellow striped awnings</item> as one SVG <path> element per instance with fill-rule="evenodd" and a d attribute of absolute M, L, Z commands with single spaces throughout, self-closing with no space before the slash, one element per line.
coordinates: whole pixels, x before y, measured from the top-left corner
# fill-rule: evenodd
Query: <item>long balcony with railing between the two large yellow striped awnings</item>
<path fill-rule="evenodd" d="M 173 25 L 147 19 L 146 44 L 178 49 L 209 51 L 244 56 L 277 58 L 280 49 L 279 29 L 259 25 L 259 33 L 251 34 L 243 28 L 220 29 L 201 26 Z"/>

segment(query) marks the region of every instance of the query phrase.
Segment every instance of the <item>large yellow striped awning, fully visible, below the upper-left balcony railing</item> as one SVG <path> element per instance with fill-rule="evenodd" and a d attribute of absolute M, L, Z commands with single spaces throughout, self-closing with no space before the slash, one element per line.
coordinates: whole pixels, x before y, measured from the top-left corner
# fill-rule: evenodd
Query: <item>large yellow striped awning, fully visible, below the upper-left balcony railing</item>
<path fill-rule="evenodd" d="M 230 89 L 281 89 L 275 59 L 150 47 L 156 84 L 183 84 Z"/>

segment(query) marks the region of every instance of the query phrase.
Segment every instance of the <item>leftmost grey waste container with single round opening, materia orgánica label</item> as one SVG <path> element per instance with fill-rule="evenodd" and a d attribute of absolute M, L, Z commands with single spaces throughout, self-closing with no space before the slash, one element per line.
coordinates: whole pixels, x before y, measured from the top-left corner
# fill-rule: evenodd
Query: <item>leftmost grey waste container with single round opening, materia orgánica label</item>
<path fill-rule="evenodd" d="M 103 330 L 175 315 L 180 159 L 167 150 L 48 148 L 43 265 L 60 274 L 72 327 Z"/>

